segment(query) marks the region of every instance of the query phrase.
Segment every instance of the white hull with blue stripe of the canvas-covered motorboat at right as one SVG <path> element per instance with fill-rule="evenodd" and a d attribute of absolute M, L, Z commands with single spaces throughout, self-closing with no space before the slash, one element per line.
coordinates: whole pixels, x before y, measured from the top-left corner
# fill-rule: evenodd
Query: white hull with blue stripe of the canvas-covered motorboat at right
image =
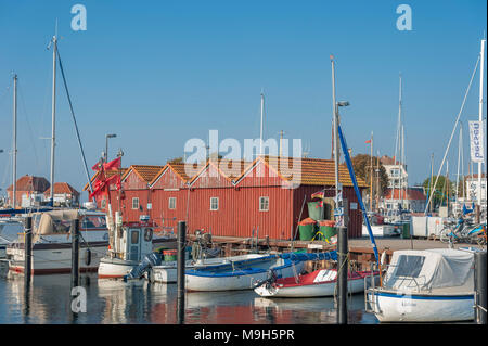
<path fill-rule="evenodd" d="M 474 319 L 474 294 L 402 294 L 368 290 L 380 322 L 455 322 Z"/>

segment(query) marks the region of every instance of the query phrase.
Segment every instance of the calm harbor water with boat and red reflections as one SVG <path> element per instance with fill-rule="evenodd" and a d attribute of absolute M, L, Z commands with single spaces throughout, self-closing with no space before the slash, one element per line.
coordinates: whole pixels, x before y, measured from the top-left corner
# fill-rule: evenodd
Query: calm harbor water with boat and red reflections
<path fill-rule="evenodd" d="M 176 284 L 125 283 L 81 274 L 87 292 L 87 312 L 74 318 L 70 309 L 69 274 L 33 277 L 26 296 L 24 278 L 8 273 L 0 265 L 0 324 L 11 323 L 177 323 Z M 189 292 L 185 296 L 187 324 L 334 324 L 333 298 L 267 299 L 254 291 Z M 349 323 L 377 323 L 364 312 L 362 294 L 349 299 Z"/>

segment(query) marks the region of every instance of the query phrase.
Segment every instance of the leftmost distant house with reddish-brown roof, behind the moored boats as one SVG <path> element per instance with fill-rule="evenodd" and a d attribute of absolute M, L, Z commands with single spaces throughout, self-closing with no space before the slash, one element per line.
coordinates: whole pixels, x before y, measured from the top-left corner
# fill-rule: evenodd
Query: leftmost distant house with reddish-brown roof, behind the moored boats
<path fill-rule="evenodd" d="M 30 207 L 39 205 L 44 201 L 44 191 L 50 188 L 49 181 L 43 177 L 34 177 L 26 175 L 16 181 L 15 187 L 15 206 Z M 13 184 L 7 189 L 9 204 L 13 204 Z"/>

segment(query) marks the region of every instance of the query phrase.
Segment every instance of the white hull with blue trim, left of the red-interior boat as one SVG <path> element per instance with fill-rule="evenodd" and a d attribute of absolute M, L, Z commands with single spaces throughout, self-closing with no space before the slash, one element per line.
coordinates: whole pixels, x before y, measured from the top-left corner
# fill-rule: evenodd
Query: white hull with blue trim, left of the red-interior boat
<path fill-rule="evenodd" d="M 273 268 L 278 278 L 288 278 L 298 274 L 305 262 Z M 227 271 L 221 273 L 187 272 L 185 287 L 188 291 L 237 291 L 252 290 L 254 284 L 266 280 L 268 271 L 253 268 Z"/>

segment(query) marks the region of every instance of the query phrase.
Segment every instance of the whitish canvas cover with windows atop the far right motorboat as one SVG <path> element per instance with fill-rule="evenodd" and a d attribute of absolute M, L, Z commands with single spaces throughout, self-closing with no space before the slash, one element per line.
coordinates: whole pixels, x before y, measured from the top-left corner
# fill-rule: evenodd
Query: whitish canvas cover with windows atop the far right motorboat
<path fill-rule="evenodd" d="M 408 291 L 458 287 L 473 291 L 474 254 L 452 248 L 396 251 L 385 287 Z"/>

